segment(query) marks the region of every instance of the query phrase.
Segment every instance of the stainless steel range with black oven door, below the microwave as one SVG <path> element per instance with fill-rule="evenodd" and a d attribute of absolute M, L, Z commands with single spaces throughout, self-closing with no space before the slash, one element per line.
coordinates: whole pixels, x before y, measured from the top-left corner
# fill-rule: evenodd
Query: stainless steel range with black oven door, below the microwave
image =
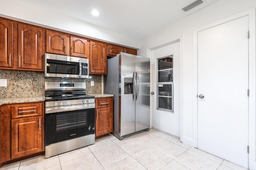
<path fill-rule="evenodd" d="M 95 143 L 95 99 L 85 82 L 45 82 L 45 157 Z"/>

